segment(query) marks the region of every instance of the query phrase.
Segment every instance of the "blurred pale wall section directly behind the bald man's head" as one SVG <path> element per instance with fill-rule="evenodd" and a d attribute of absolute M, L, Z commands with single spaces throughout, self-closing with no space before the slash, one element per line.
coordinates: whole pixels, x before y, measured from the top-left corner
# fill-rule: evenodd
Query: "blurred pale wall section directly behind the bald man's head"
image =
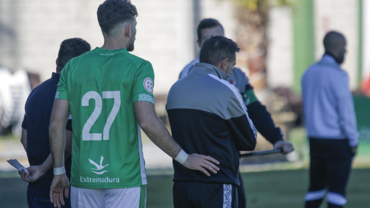
<path fill-rule="evenodd" d="M 347 54 L 342 68 L 347 71 L 352 89 L 358 85 L 359 63 L 359 1 L 314 0 L 315 57 L 324 53 L 323 39 L 330 30 L 344 34 L 347 39 Z"/>

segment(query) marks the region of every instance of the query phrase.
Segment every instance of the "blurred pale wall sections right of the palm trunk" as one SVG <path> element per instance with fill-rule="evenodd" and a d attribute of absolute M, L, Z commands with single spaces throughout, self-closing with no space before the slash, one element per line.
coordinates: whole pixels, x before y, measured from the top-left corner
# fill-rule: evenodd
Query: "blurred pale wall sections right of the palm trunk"
<path fill-rule="evenodd" d="M 342 32 L 347 39 L 347 54 L 342 68 L 348 72 L 350 87 L 355 90 L 359 84 L 359 60 L 361 60 L 359 47 L 362 44 L 359 39 L 361 18 L 359 15 L 359 1 L 312 0 L 312 3 L 314 43 L 311 44 L 314 45 L 315 61 L 318 61 L 324 53 L 323 38 L 325 34 L 330 30 Z M 368 7 L 370 8 L 370 6 Z M 367 17 L 368 11 L 369 9 L 363 11 L 366 20 L 370 19 Z M 301 78 L 300 76 L 294 76 L 297 73 L 293 66 L 294 57 L 296 56 L 293 53 L 294 41 L 292 36 L 295 33 L 292 27 L 294 17 L 291 9 L 287 7 L 273 7 L 269 15 L 268 85 L 269 87 L 292 87 L 294 79 L 299 79 L 296 81 L 300 82 Z M 368 31 L 365 25 L 363 29 Z M 366 49 L 365 46 L 363 51 L 366 55 L 362 57 L 363 63 L 369 67 L 370 58 L 367 57 L 370 54 L 369 49 Z M 364 70 L 364 74 L 369 74 L 367 71 L 370 70 Z"/>

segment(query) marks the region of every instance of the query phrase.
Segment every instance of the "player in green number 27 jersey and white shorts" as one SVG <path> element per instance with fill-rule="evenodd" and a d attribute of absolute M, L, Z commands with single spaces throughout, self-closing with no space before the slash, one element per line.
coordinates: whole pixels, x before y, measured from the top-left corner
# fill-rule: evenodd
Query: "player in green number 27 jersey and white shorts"
<path fill-rule="evenodd" d="M 140 127 L 166 154 L 186 168 L 210 175 L 210 156 L 188 155 L 172 139 L 154 109 L 151 63 L 134 56 L 137 10 L 129 0 L 106 0 L 97 11 L 104 45 L 64 67 L 50 122 L 54 179 L 50 200 L 64 204 L 65 123 L 73 118 L 72 207 L 145 207 L 146 175 Z M 207 170 L 206 170 L 207 169 Z M 64 189 L 64 191 L 63 191 Z"/>

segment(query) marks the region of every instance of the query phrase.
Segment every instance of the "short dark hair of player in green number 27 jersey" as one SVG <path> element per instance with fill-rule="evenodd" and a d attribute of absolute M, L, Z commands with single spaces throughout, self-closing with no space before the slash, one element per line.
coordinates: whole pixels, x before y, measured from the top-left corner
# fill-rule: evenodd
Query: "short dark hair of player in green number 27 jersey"
<path fill-rule="evenodd" d="M 134 20 L 138 11 L 130 0 L 105 0 L 98 7 L 97 15 L 101 30 L 110 34 L 117 24 Z"/>

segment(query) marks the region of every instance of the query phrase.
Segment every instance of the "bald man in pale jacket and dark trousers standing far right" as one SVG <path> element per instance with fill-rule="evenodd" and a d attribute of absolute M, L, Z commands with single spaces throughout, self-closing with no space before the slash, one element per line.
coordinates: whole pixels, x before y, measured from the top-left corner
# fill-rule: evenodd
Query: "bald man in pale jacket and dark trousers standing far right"
<path fill-rule="evenodd" d="M 344 207 L 352 158 L 359 144 L 348 75 L 340 68 L 346 39 L 330 31 L 323 42 L 325 54 L 302 77 L 311 158 L 306 208 L 319 207 L 326 192 L 329 208 Z"/>

